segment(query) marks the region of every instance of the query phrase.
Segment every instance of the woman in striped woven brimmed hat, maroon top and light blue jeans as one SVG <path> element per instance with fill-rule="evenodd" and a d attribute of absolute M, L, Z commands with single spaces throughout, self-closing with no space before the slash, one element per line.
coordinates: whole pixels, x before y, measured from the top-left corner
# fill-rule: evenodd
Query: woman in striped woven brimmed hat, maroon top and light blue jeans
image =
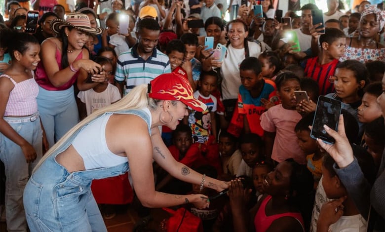
<path fill-rule="evenodd" d="M 57 38 L 41 44 L 36 81 L 41 121 L 49 146 L 53 146 L 79 121 L 74 83 L 84 91 L 103 82 L 106 76 L 102 66 L 89 60 L 88 50 L 83 48 L 89 34 L 102 32 L 100 28 L 91 28 L 87 15 L 68 14 L 67 21 L 52 20 L 50 28 Z M 86 81 L 88 74 L 92 75 L 90 81 Z"/>

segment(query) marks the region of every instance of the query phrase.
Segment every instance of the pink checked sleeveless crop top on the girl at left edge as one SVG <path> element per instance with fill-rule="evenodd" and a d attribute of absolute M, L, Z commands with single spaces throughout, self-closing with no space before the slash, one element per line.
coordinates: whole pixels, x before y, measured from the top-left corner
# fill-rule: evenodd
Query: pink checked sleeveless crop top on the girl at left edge
<path fill-rule="evenodd" d="M 15 85 L 9 93 L 4 116 L 28 116 L 38 112 L 36 97 L 39 94 L 39 85 L 34 78 L 16 83 L 16 81 L 8 75 L 3 74 L 0 75 L 0 78 L 1 77 L 8 78 Z"/>

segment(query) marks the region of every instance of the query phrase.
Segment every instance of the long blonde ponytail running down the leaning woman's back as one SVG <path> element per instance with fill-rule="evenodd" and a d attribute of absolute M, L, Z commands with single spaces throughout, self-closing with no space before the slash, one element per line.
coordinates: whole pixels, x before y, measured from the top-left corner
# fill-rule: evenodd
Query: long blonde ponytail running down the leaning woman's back
<path fill-rule="evenodd" d="M 156 110 L 157 105 L 160 101 L 161 100 L 148 97 L 147 84 L 141 84 L 136 86 L 120 101 L 105 108 L 99 109 L 98 111 L 92 113 L 91 115 L 87 116 L 82 121 L 77 123 L 77 125 L 75 125 L 71 130 L 69 130 L 55 145 L 53 145 L 45 153 L 45 155 L 40 159 L 39 163 L 36 165 L 34 172 L 39 168 L 39 166 L 44 162 L 44 160 L 50 155 L 52 155 L 63 143 L 65 143 L 71 137 L 71 135 L 73 135 L 77 130 L 79 130 L 81 127 L 83 127 L 96 117 L 103 115 L 106 112 L 116 112 L 119 110 L 142 109 L 145 107 L 150 108 L 150 110 Z"/>

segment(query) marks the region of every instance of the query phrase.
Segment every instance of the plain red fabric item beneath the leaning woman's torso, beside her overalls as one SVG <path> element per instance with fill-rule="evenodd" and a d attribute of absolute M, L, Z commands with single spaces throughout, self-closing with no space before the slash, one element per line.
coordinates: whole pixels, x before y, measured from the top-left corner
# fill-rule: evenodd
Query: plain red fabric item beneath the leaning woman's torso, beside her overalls
<path fill-rule="evenodd" d="M 128 172 L 120 176 L 93 180 L 91 190 L 98 204 L 128 204 L 134 198 Z"/>

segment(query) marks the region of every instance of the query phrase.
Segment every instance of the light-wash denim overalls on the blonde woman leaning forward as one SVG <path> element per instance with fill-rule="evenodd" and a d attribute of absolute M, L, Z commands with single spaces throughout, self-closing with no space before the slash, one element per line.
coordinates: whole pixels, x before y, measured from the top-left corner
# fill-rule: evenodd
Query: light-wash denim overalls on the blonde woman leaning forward
<path fill-rule="evenodd" d="M 118 111 L 102 116 L 109 114 L 140 116 L 148 124 L 150 133 L 151 118 L 144 110 Z M 113 167 L 69 173 L 56 162 L 55 157 L 71 145 L 80 130 L 50 155 L 28 181 L 23 200 L 28 226 L 32 232 L 107 232 L 91 193 L 91 182 L 94 179 L 121 175 L 129 169 L 129 165 L 126 162 Z"/>

